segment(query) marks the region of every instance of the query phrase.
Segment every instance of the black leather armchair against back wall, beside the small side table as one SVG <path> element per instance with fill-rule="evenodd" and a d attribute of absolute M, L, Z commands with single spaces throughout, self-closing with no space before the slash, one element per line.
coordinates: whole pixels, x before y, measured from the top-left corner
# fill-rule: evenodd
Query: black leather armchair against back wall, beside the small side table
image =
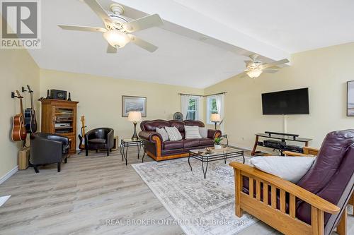
<path fill-rule="evenodd" d="M 113 148 L 114 131 L 112 128 L 96 128 L 85 134 L 86 156 L 89 150 L 107 150 L 107 156 Z"/>

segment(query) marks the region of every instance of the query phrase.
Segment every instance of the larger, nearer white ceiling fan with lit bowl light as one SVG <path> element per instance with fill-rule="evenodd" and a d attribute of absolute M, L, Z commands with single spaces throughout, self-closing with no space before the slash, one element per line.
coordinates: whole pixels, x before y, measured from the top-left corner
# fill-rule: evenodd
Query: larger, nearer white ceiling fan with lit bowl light
<path fill-rule="evenodd" d="M 145 30 L 147 28 L 162 25 L 163 22 L 158 14 L 145 16 L 137 20 L 128 21 L 122 16 L 124 7 L 119 4 L 110 5 L 112 13 L 105 11 L 96 0 L 84 0 L 91 10 L 96 13 L 103 21 L 105 28 L 77 26 L 77 25 L 58 25 L 63 30 L 79 30 L 86 32 L 103 32 L 103 37 L 108 42 L 107 53 L 117 53 L 118 48 L 124 47 L 129 42 L 136 44 L 142 49 L 154 52 L 158 47 L 146 42 L 139 37 L 132 35 L 132 32 Z"/>

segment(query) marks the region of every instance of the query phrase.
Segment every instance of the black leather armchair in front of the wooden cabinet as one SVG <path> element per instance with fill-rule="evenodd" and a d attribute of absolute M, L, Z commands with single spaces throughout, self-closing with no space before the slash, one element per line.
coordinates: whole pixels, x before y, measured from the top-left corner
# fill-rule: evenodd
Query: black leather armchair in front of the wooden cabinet
<path fill-rule="evenodd" d="M 33 133 L 30 135 L 30 164 L 33 165 L 35 173 L 38 173 L 38 166 L 57 163 L 60 172 L 62 160 L 67 163 L 69 149 L 67 137 L 50 133 Z"/>

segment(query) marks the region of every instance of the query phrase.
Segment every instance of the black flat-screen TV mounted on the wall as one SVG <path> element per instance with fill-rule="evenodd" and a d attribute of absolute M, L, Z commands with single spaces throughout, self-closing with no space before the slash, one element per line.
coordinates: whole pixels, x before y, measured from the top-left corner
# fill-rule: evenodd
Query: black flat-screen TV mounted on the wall
<path fill-rule="evenodd" d="M 309 88 L 262 94 L 263 115 L 309 114 Z"/>

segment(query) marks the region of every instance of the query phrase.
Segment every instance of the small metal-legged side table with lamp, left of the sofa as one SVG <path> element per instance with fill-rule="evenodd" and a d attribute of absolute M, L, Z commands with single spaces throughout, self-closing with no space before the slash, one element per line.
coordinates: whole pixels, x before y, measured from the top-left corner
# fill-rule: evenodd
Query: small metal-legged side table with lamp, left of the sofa
<path fill-rule="evenodd" d="M 144 150 L 144 142 L 139 139 L 137 136 L 137 123 L 142 121 L 142 113 L 141 112 L 129 112 L 128 121 L 132 121 L 134 124 L 134 133 L 132 138 L 123 138 L 120 140 L 120 154 L 122 155 L 122 161 L 125 160 L 125 165 L 127 165 L 127 152 L 129 147 L 137 146 L 137 158 L 139 159 L 140 151 Z M 145 155 L 145 150 L 144 150 Z M 143 158 L 144 158 L 143 155 Z"/>

